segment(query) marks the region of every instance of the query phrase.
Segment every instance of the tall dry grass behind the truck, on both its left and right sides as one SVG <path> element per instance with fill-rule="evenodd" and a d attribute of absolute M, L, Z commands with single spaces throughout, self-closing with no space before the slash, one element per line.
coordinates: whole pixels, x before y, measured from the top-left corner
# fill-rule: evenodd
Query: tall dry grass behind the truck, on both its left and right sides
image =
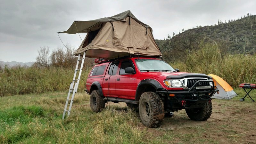
<path fill-rule="evenodd" d="M 206 43 L 184 59 L 171 65 L 183 72 L 215 74 L 232 87 L 256 83 L 256 54 L 224 54 L 217 44 Z M 85 88 L 90 70 L 91 66 L 83 69 L 78 91 Z M 0 69 L 0 96 L 68 90 L 73 75 L 74 69 L 63 67 L 4 67 Z"/>

